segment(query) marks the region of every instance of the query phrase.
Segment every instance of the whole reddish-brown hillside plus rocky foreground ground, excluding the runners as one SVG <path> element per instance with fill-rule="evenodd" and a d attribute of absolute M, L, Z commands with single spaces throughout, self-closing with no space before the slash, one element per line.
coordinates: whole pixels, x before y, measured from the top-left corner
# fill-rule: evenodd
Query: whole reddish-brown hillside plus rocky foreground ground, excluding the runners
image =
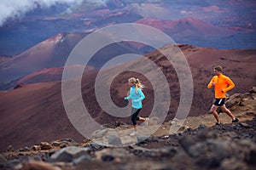
<path fill-rule="evenodd" d="M 167 45 L 162 49 L 172 47 Z M 177 73 L 159 51 L 146 54 L 145 58 L 160 67 L 169 83 L 171 105 L 164 123 L 159 124 L 158 117 L 150 116 L 154 88 L 148 81 L 148 74 L 157 75 L 149 65 L 143 65 L 148 71 L 144 75 L 134 71 L 119 74 L 110 89 L 113 103 L 124 107 L 127 103 L 123 98 L 129 89 L 127 79 L 138 77 L 145 84 L 147 98 L 143 101 L 141 116 L 149 116 L 150 121 L 148 127 L 139 126 L 139 133 L 146 136 L 130 138 L 129 117 L 110 116 L 102 111 L 95 94 L 96 71 L 83 76 L 81 87 L 86 109 L 103 127 L 92 133 L 93 139 L 84 139 L 67 118 L 61 98 L 61 81 L 20 83 L 13 90 L 0 92 L 1 169 L 103 169 L 106 166 L 109 169 L 148 169 L 148 166 L 151 169 L 253 169 L 256 162 L 256 50 L 199 48 L 183 44 L 178 47 L 189 62 L 194 85 L 192 106 L 183 124 L 181 120 L 173 119 L 180 98 Z M 102 81 L 108 81 L 115 71 L 142 65 L 143 59 L 104 69 L 106 77 Z M 240 120 L 238 123 L 231 124 L 230 117 L 220 113 L 223 125 L 214 126 L 215 120 L 208 114 L 213 98 L 212 90 L 207 89 L 212 78 L 212 65 L 223 65 L 224 74 L 236 83 L 229 92 L 226 105 Z M 73 80 L 69 81 L 73 83 Z M 159 83 L 157 88 L 164 86 Z M 70 98 L 74 100 L 76 96 Z M 157 131 L 151 134 L 155 127 L 158 127 Z M 179 130 L 172 132 L 171 127 Z M 116 136 L 113 130 L 125 133 Z M 123 144 L 124 147 L 111 147 Z"/>

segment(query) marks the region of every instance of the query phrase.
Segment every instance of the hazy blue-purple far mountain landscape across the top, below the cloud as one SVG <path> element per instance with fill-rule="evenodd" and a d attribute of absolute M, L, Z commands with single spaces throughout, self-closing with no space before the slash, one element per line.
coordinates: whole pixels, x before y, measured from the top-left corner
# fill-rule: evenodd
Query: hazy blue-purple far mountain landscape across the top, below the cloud
<path fill-rule="evenodd" d="M 84 1 L 76 8 L 56 3 L 49 8 L 34 8 L 20 20 L 9 20 L 0 26 L 0 54 L 23 53 L 60 32 L 86 33 L 138 20 L 148 26 L 164 27 L 180 43 L 210 48 L 255 48 L 255 10 L 253 1 L 239 0 L 108 0 L 101 4 Z M 169 21 L 176 22 L 173 23 L 176 27 L 168 28 Z M 227 37 L 229 42 L 225 41 Z"/>

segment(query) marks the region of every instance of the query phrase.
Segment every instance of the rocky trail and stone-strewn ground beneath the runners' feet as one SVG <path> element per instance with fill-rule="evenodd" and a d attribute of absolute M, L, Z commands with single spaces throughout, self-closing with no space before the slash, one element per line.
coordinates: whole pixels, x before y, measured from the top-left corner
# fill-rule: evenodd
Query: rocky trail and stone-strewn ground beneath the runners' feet
<path fill-rule="evenodd" d="M 221 112 L 222 125 L 215 125 L 211 114 L 187 117 L 182 125 L 180 120 L 158 125 L 157 118 L 153 118 L 148 126 L 140 127 L 136 137 L 129 137 L 131 129 L 119 123 L 117 127 L 102 128 L 94 133 L 95 139 L 84 139 L 81 143 L 60 139 L 20 150 L 9 146 L 0 155 L 0 169 L 253 170 L 256 166 L 255 99 L 255 87 L 247 94 L 234 94 L 227 99 L 226 105 L 240 120 L 236 123 L 231 123 L 230 117 Z M 147 132 L 154 126 L 160 127 L 149 135 Z M 171 126 L 179 128 L 177 133 L 170 133 Z M 114 133 L 119 129 L 125 133 L 117 136 Z M 134 141 L 136 144 L 129 144 Z"/>

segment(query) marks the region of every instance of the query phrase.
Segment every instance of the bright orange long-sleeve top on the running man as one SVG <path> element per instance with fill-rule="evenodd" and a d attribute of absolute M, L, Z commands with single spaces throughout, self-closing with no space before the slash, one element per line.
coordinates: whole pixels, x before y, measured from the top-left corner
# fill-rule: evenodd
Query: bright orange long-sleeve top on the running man
<path fill-rule="evenodd" d="M 235 87 L 235 83 L 231 81 L 230 77 L 226 77 L 223 74 L 212 77 L 211 82 L 208 84 L 208 88 L 212 88 L 212 82 L 215 82 L 216 99 L 226 98 L 226 92 Z"/>

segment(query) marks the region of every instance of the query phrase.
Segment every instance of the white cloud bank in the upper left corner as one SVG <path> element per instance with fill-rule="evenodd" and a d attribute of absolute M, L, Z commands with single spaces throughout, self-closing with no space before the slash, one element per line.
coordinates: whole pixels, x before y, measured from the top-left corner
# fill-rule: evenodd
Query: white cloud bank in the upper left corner
<path fill-rule="evenodd" d="M 0 2 L 0 26 L 9 19 L 22 17 L 35 8 L 49 8 L 57 3 L 67 4 L 71 7 L 81 3 L 90 3 L 101 6 L 105 0 L 1 0 Z"/>

